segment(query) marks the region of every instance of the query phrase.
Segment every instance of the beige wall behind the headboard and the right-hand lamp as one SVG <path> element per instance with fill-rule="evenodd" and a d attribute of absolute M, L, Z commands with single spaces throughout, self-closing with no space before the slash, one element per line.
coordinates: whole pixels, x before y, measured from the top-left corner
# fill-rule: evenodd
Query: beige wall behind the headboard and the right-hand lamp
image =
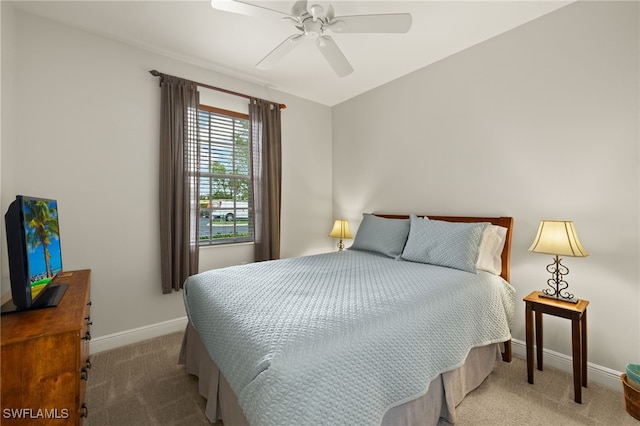
<path fill-rule="evenodd" d="M 522 297 L 549 278 L 551 257 L 527 251 L 538 223 L 573 220 L 589 361 L 638 362 L 638 18 L 637 2 L 572 4 L 334 107 L 334 215 L 514 216 L 520 341 Z M 569 323 L 545 324 L 545 348 L 570 356 Z"/>

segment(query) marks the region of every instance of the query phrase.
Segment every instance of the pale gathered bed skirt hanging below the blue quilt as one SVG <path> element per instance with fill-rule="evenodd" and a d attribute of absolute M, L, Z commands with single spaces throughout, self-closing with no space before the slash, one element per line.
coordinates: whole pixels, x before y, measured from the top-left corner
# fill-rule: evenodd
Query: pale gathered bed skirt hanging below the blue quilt
<path fill-rule="evenodd" d="M 387 411 L 382 425 L 433 426 L 441 417 L 454 423 L 455 407 L 483 382 L 499 359 L 498 344 L 472 349 L 462 367 L 432 380 L 424 396 Z M 178 362 L 198 377 L 200 394 L 207 399 L 205 415 L 212 423 L 222 420 L 225 426 L 249 425 L 238 399 L 191 324 L 185 330 Z"/>

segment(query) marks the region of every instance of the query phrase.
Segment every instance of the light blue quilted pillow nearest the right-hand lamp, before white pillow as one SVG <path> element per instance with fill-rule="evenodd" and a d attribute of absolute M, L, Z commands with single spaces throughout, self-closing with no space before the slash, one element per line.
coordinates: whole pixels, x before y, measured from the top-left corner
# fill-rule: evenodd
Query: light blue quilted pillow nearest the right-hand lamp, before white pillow
<path fill-rule="evenodd" d="M 402 259 L 476 273 L 486 223 L 420 219 L 411 215 Z"/>

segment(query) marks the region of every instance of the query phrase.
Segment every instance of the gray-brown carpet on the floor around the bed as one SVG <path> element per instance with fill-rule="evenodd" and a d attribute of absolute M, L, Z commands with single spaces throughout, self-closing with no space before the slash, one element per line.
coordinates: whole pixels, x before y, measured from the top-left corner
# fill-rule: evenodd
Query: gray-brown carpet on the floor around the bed
<path fill-rule="evenodd" d="M 198 382 L 177 365 L 182 333 L 92 356 L 85 426 L 211 425 Z M 462 401 L 457 426 L 638 426 L 620 392 L 589 383 L 582 404 L 573 401 L 571 375 L 545 368 L 527 383 L 524 360 L 498 362 L 494 372 Z M 441 421 L 441 425 L 448 425 Z"/>

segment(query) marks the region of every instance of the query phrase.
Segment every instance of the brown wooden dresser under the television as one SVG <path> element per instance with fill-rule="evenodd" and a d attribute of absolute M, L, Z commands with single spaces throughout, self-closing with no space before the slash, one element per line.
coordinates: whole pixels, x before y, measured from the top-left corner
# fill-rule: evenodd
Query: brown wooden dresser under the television
<path fill-rule="evenodd" d="M 87 416 L 91 270 L 62 272 L 57 307 L 3 315 L 0 423 L 81 425 Z"/>

